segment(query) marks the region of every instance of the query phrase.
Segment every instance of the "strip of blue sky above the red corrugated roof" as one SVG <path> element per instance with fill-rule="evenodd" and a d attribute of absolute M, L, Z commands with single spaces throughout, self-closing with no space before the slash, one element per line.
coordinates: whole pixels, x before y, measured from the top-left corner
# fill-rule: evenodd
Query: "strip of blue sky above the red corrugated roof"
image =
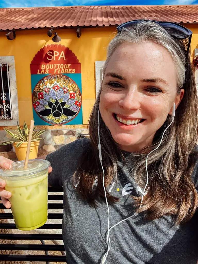
<path fill-rule="evenodd" d="M 44 7 L 44 6 L 119 6 L 122 5 L 160 5 L 160 4 L 198 4 L 198 0 L 0 0 L 0 7 Z"/>

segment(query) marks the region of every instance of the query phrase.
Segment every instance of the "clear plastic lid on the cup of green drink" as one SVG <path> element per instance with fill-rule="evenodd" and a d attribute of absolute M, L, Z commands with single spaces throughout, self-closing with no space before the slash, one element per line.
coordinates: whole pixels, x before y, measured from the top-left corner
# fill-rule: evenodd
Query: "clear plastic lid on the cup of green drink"
<path fill-rule="evenodd" d="M 24 163 L 25 161 L 17 161 L 12 163 L 11 169 L 0 169 L 0 177 L 36 176 L 50 166 L 50 162 L 45 159 L 29 159 L 27 169 L 24 169 Z"/>

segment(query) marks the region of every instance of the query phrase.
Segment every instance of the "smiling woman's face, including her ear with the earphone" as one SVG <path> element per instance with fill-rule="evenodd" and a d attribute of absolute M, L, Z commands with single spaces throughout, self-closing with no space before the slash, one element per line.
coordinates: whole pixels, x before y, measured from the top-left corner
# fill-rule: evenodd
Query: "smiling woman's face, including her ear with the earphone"
<path fill-rule="evenodd" d="M 125 42 L 115 50 L 103 78 L 100 114 L 121 149 L 135 152 L 152 144 L 183 96 L 176 87 L 175 65 L 162 46 Z"/>

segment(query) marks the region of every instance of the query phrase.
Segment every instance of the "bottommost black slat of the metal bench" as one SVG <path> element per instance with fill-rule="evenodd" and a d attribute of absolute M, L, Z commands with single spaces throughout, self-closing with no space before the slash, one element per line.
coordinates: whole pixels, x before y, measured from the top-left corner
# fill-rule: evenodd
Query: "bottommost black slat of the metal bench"
<path fill-rule="evenodd" d="M 41 256 L 41 255 L 1 255 L 1 260 L 4 261 L 52 261 L 66 262 L 66 256 Z"/>

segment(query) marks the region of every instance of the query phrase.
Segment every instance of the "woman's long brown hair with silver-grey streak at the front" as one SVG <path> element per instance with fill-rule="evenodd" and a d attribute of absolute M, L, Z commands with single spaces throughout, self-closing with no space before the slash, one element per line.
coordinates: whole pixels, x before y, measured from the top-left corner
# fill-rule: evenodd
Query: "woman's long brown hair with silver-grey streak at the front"
<path fill-rule="evenodd" d="M 198 195 L 191 180 L 197 159 L 195 151 L 198 127 L 197 90 L 190 55 L 185 58 L 187 42 L 173 40 L 166 30 L 153 22 L 141 22 L 133 28 L 124 29 L 110 42 L 103 76 L 111 55 L 125 41 L 131 43 L 152 41 L 166 48 L 177 69 L 177 93 L 180 93 L 181 88 L 185 90 L 184 97 L 176 110 L 174 122 L 164 135 L 161 146 L 149 155 L 147 163 L 149 185 L 141 208 L 139 208 L 141 197 L 132 197 L 133 206 L 137 208 L 138 213 L 144 212 L 147 219 L 154 220 L 163 215 L 174 215 L 176 223 L 180 224 L 193 216 L 198 205 Z M 78 182 L 79 194 L 92 206 L 97 205 L 98 199 L 105 197 L 103 173 L 98 155 L 99 102 L 100 93 L 88 124 L 91 142 L 73 177 L 74 182 Z M 161 135 L 170 124 L 171 118 L 168 116 L 163 126 L 156 131 L 153 145 L 142 149 L 141 153 L 133 153 L 127 163 L 130 175 L 142 188 L 146 183 L 146 156 L 159 144 Z M 124 157 L 101 116 L 99 120 L 102 163 L 105 170 L 105 186 L 107 186 L 117 176 L 118 160 Z M 98 185 L 93 189 L 96 176 Z M 110 203 L 119 200 L 108 193 L 107 199 Z"/>

